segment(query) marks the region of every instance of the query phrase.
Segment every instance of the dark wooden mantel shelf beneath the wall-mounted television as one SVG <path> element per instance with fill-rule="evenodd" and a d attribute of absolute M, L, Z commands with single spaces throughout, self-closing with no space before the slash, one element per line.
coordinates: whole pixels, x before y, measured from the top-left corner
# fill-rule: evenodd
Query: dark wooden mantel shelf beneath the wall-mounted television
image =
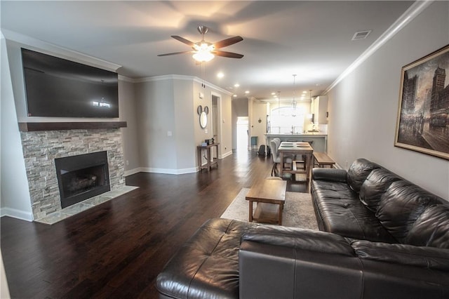
<path fill-rule="evenodd" d="M 57 131 L 95 128 L 126 128 L 126 121 L 81 121 L 81 122 L 46 122 L 46 123 L 19 123 L 19 131 Z"/>

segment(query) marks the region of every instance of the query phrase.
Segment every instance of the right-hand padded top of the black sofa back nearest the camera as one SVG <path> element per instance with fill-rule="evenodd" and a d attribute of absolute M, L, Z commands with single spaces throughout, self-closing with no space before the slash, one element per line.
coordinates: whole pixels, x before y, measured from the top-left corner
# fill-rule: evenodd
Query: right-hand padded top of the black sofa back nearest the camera
<path fill-rule="evenodd" d="M 351 246 L 362 259 L 449 271 L 449 249 L 364 240 L 353 241 Z"/>

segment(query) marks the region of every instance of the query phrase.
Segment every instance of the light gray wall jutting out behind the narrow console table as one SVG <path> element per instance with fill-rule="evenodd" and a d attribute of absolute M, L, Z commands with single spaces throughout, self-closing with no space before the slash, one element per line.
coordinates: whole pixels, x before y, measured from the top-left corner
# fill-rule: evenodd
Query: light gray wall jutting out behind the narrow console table
<path fill-rule="evenodd" d="M 189 76 L 169 75 L 135 83 L 140 170 L 155 173 L 192 173 L 199 165 L 196 146 L 212 138 L 212 94 L 220 98 L 221 142 L 219 153 L 230 154 L 230 95 Z M 199 93 L 203 98 L 199 98 Z M 199 125 L 197 107 L 209 107 L 206 128 Z M 225 122 L 223 123 L 223 120 Z M 228 153 L 229 152 L 229 153 Z M 205 163 L 206 161 L 201 161 Z"/>

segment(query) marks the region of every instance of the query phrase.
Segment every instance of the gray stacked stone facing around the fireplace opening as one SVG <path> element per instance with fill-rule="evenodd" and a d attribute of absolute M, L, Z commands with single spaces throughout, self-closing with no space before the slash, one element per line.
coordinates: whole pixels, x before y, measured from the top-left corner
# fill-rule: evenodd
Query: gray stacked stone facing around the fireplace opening
<path fill-rule="evenodd" d="M 119 128 L 21 132 L 34 219 L 60 211 L 55 159 L 107 151 L 111 190 L 125 185 Z"/>

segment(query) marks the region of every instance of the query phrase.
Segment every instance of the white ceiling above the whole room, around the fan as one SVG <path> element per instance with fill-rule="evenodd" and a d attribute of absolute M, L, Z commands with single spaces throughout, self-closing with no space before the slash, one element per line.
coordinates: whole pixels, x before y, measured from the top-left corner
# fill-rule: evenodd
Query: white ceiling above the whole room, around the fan
<path fill-rule="evenodd" d="M 164 74 L 196 76 L 243 97 L 291 98 L 321 94 L 394 23 L 413 1 L 4 1 L 1 28 L 121 65 L 130 78 Z M 240 35 L 204 73 L 189 51 L 172 39 L 206 41 Z M 355 32 L 372 30 L 351 41 Z M 6 36 L 8 37 L 8 36 Z M 225 73 L 218 79 L 217 72 Z M 293 74 L 297 74 L 293 88 Z M 234 84 L 240 87 L 235 88 Z"/>

